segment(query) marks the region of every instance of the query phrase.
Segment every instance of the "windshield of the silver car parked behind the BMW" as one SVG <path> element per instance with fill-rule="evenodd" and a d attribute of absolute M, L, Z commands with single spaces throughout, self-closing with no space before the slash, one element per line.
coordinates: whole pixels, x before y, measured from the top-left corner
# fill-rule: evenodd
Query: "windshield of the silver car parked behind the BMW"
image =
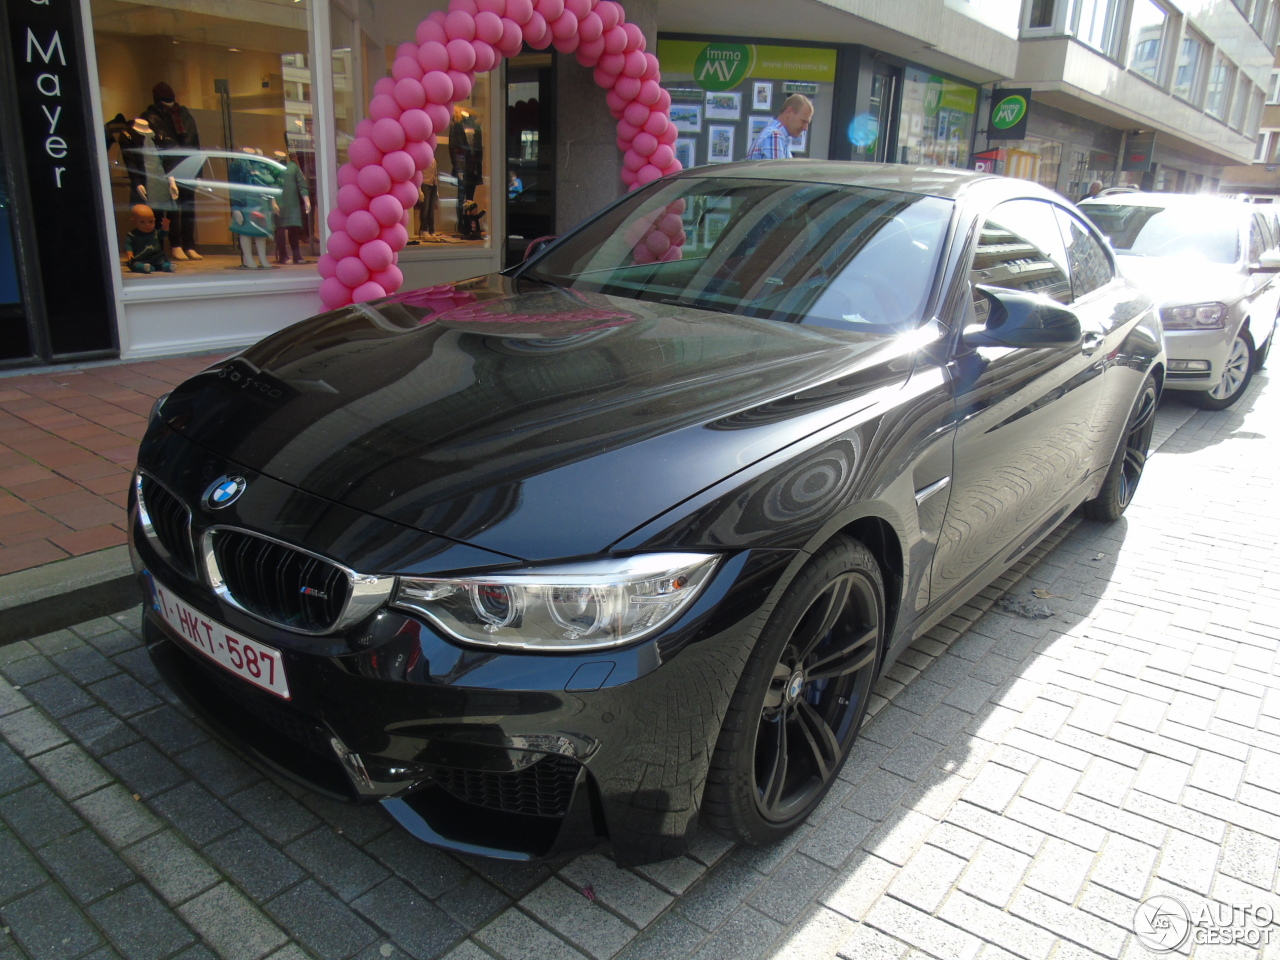
<path fill-rule="evenodd" d="M 1240 259 L 1240 218 L 1219 206 L 1137 206 L 1082 204 L 1117 253 L 1193 257 L 1211 264 Z"/>

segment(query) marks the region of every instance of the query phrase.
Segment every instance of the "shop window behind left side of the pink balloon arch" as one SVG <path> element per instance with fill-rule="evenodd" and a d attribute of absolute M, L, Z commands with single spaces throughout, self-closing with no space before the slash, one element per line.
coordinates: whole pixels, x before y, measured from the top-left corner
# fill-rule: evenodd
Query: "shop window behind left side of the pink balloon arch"
<path fill-rule="evenodd" d="M 447 0 L 404 4 L 399 0 L 332 0 L 334 122 L 337 166 L 347 163 L 347 148 L 367 116 L 375 84 L 392 76 L 396 49 L 413 41 L 413 31 Z M 417 205 L 410 210 L 408 246 L 401 257 L 421 247 L 490 246 L 497 192 L 493 187 L 495 84 L 492 73 L 477 73 L 470 96 L 453 105 L 449 124 L 439 131 L 435 166 L 424 172 Z"/>

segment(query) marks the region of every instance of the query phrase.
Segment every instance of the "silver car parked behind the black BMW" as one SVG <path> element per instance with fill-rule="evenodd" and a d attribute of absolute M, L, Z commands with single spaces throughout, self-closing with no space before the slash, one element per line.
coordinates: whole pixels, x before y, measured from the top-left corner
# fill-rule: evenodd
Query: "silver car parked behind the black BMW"
<path fill-rule="evenodd" d="M 1266 362 L 1280 307 L 1274 218 L 1256 205 L 1176 193 L 1114 193 L 1080 210 L 1120 271 L 1160 305 L 1165 387 L 1224 410 Z"/>

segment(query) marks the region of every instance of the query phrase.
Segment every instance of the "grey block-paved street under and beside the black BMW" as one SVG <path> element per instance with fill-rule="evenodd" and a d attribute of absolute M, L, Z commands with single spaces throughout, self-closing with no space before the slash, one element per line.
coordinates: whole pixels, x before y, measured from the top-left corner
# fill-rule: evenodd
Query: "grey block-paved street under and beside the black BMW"
<path fill-rule="evenodd" d="M 772 849 L 445 855 L 210 740 L 137 613 L 3 646 L 0 960 L 1137 957 L 1155 893 L 1280 911 L 1277 415 L 1266 378 L 1166 408 L 1128 517 L 1009 581 L 1055 616 L 989 591 L 918 643 Z"/>

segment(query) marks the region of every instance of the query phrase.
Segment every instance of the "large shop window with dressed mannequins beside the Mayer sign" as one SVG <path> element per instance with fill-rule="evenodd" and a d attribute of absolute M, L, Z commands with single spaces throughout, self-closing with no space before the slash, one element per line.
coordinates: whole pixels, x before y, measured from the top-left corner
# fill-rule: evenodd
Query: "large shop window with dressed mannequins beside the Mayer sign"
<path fill-rule="evenodd" d="M 307 0 L 91 9 L 125 284 L 314 262 Z"/>

